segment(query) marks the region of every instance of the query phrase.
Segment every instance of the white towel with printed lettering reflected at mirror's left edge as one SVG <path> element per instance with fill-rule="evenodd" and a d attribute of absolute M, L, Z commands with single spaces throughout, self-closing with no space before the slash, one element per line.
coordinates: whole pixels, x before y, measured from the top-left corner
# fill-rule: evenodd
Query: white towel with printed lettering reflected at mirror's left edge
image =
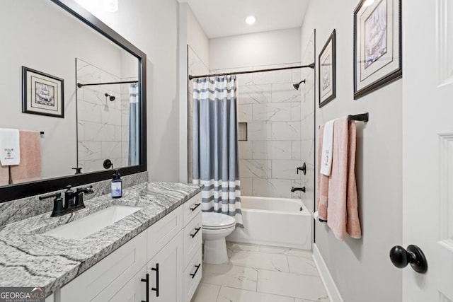
<path fill-rule="evenodd" d="M 1 165 L 18 165 L 21 163 L 18 129 L 0 128 L 0 163 Z"/>

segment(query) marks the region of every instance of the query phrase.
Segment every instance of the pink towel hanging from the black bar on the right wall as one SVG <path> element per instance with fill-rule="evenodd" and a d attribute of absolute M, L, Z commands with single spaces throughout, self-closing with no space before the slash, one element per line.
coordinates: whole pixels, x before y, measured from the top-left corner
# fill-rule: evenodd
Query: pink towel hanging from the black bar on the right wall
<path fill-rule="evenodd" d="M 323 127 L 319 129 L 320 138 L 323 134 L 321 129 Z M 327 220 L 328 226 L 339 240 L 344 240 L 346 233 L 352 238 L 362 236 L 357 211 L 355 144 L 355 122 L 348 122 L 348 117 L 336 120 L 331 175 L 327 177 L 318 173 L 319 199 L 316 203 L 319 218 Z"/>

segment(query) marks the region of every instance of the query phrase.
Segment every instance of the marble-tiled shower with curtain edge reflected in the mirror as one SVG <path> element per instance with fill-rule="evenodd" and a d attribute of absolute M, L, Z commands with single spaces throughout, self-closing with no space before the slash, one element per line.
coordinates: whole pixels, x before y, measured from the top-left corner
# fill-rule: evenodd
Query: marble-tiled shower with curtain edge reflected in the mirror
<path fill-rule="evenodd" d="M 139 163 L 139 86 L 137 59 L 97 66 L 76 59 L 77 163 L 85 173 Z M 115 68 L 113 68 L 115 67 Z"/>

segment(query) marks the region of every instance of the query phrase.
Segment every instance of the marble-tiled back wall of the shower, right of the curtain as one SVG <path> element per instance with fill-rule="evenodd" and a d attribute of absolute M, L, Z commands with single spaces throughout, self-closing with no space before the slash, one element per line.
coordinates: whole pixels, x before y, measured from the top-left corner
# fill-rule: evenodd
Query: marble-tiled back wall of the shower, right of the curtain
<path fill-rule="evenodd" d="M 293 66 L 287 64 L 284 66 Z M 255 66 L 268 69 L 282 66 Z M 253 68 L 252 68 L 253 69 Z M 238 77 L 239 122 L 247 122 L 248 141 L 240 144 L 242 192 L 263 197 L 291 197 L 301 158 L 302 90 L 300 69 Z M 301 85 L 303 88 L 303 84 Z M 250 120 L 250 117 L 252 119 Z M 241 142 L 243 143 L 243 142 Z M 251 153 L 250 153 L 251 152 Z"/>

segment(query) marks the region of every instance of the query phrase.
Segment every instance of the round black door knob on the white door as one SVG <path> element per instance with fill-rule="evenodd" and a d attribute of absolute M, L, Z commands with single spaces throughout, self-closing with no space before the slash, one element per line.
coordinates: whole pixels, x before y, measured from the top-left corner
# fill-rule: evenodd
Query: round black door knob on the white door
<path fill-rule="evenodd" d="M 428 270 L 425 254 L 417 245 L 408 245 L 407 250 L 400 245 L 395 245 L 390 250 L 390 260 L 394 266 L 400 269 L 410 264 L 413 270 L 420 274 L 425 274 Z"/>

